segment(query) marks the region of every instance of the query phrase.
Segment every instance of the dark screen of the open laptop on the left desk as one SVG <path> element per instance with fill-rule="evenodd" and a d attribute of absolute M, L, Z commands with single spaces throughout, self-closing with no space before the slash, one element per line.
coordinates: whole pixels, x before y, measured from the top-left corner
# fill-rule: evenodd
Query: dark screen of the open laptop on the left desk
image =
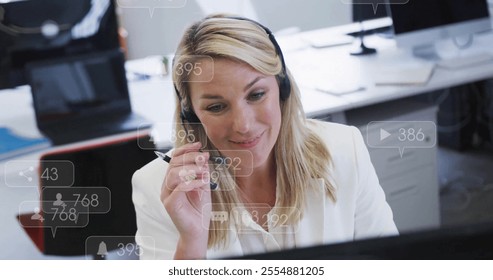
<path fill-rule="evenodd" d="M 124 63 L 119 49 L 29 63 L 38 126 L 129 112 Z"/>

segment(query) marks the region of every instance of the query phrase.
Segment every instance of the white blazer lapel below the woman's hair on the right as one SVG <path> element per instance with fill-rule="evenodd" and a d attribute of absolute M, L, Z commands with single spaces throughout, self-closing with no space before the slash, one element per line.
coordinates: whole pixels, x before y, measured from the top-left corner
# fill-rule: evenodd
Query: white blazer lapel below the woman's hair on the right
<path fill-rule="evenodd" d="M 307 186 L 303 218 L 295 227 L 297 247 L 307 247 L 324 243 L 325 194 L 324 180 L 312 179 Z"/>

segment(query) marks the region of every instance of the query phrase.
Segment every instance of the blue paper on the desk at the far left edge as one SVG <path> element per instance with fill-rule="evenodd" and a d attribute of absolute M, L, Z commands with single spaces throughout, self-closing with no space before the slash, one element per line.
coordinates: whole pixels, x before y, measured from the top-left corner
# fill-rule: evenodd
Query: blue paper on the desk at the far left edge
<path fill-rule="evenodd" d="M 28 138 L 0 127 L 0 161 L 50 147 L 46 138 Z"/>

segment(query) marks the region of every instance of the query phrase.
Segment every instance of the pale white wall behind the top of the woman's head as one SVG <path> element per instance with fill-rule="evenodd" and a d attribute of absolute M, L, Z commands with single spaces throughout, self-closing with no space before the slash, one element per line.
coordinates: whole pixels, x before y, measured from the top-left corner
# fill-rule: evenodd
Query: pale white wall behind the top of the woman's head
<path fill-rule="evenodd" d="M 295 26 L 301 30 L 310 30 L 351 22 L 351 7 L 342 0 L 182 2 L 185 5 L 180 8 L 156 8 L 152 17 L 149 9 L 119 6 L 120 21 L 128 32 L 129 59 L 173 53 L 185 28 L 206 14 L 214 12 L 234 13 L 258 20 L 273 32 Z"/>

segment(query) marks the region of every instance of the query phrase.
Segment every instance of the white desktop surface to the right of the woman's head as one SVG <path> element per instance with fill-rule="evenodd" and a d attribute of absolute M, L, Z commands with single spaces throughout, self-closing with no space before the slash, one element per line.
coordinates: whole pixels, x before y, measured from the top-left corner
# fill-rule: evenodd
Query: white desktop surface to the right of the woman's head
<path fill-rule="evenodd" d="M 330 36 L 332 32 L 332 29 L 311 31 L 314 35 L 310 34 L 310 36 Z M 306 32 L 305 35 L 307 33 L 310 32 Z M 287 46 L 288 50 L 290 45 L 297 46 L 295 50 L 284 52 L 284 56 L 286 64 L 302 88 L 303 95 L 306 94 L 306 88 L 313 87 L 313 83 L 319 81 L 319 77 L 343 83 L 359 83 L 366 88 L 363 91 L 336 96 L 335 105 L 329 104 L 325 112 L 359 108 L 493 76 L 493 62 L 491 62 L 455 70 L 437 67 L 430 81 L 422 86 L 375 86 L 373 81 L 375 76 L 381 72 L 380 68 L 394 67 L 396 71 L 399 71 L 400 65 L 419 63 L 420 60 L 414 58 L 408 51 L 397 49 L 393 40 L 379 36 L 365 37 L 365 43 L 378 50 L 377 55 L 365 57 L 348 55 L 349 45 L 314 49 L 306 43 L 303 44 L 302 40 L 301 36 L 291 35 L 279 41 L 281 48 Z M 464 53 L 475 51 L 491 53 L 493 52 L 492 43 L 493 33 L 476 36 L 474 46 L 469 50 L 464 50 Z M 312 109 L 305 107 L 309 115 L 320 113 Z"/>

